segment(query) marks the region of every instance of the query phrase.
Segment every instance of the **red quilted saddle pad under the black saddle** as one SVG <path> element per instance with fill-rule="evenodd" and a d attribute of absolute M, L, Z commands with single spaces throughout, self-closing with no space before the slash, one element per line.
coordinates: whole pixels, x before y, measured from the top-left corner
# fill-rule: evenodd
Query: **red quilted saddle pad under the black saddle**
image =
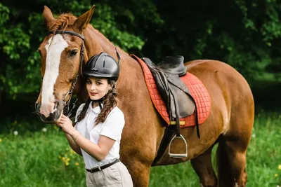
<path fill-rule="evenodd" d="M 145 83 L 148 86 L 148 91 L 150 92 L 152 102 L 159 114 L 166 121 L 166 126 L 168 126 L 170 124 L 169 114 L 166 110 L 164 100 L 162 99 L 161 95 L 159 95 L 150 69 L 145 64 L 145 62 L 143 62 L 143 60 L 138 58 L 136 55 L 131 55 L 131 57 L 138 60 L 138 62 L 141 64 L 145 76 Z M 207 88 L 203 85 L 202 81 L 200 81 L 199 78 L 190 73 L 185 74 L 185 76 L 181 76 L 181 80 L 190 90 L 190 95 L 195 99 L 195 104 L 197 106 L 198 123 L 204 123 L 211 111 L 211 99 Z M 183 120 L 185 121 L 185 125 L 181 125 L 181 127 L 194 126 L 195 112 L 188 117 L 181 118 L 181 121 Z"/>

